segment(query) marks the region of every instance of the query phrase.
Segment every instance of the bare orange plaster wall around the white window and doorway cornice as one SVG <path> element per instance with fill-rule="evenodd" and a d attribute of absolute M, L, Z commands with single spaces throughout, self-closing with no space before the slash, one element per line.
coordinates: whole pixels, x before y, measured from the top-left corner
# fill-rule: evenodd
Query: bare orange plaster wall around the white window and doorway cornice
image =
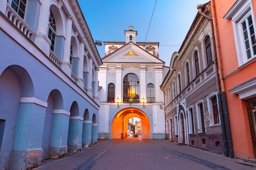
<path fill-rule="evenodd" d="M 236 0 L 212 0 L 212 2 L 213 1 L 216 9 L 223 76 L 226 76 L 238 68 L 232 20 L 223 18 Z M 256 9 L 255 0 L 253 0 L 253 7 Z M 256 77 L 255 68 L 256 62 L 253 62 L 224 79 L 234 155 L 235 157 L 243 159 L 248 157 L 254 158 L 247 107 L 245 100 L 239 99 L 238 95 L 231 94 L 228 91 L 234 88 L 234 86 Z"/>

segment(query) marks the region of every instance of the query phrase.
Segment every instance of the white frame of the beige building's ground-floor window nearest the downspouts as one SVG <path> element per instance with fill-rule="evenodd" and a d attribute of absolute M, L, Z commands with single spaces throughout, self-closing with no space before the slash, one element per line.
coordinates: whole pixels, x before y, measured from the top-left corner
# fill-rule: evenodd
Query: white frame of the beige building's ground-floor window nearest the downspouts
<path fill-rule="evenodd" d="M 217 104 L 218 104 L 218 117 L 219 117 L 219 122 L 220 122 L 220 110 L 219 110 L 219 103 L 218 103 L 218 95 L 217 92 L 213 92 L 207 96 L 207 107 L 208 107 L 208 113 L 209 113 L 209 118 L 210 118 L 210 124 L 209 126 L 216 126 L 220 125 L 221 123 L 214 124 L 214 117 L 213 117 L 213 106 L 212 106 L 212 98 L 215 97 L 217 98 Z"/>

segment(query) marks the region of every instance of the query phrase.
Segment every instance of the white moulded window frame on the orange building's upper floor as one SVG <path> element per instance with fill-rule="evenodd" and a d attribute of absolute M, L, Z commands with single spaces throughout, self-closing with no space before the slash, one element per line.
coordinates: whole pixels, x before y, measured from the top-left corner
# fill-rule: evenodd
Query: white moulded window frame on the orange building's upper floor
<path fill-rule="evenodd" d="M 238 66 L 242 66 L 251 60 L 256 60 L 256 55 L 252 54 L 252 57 L 247 59 L 245 42 L 243 36 L 243 30 L 241 23 L 249 16 L 252 15 L 252 21 L 254 26 L 254 32 L 256 33 L 255 28 L 255 18 L 252 7 L 252 0 L 237 0 L 236 3 L 231 7 L 228 13 L 224 16 L 225 19 L 232 19 L 232 25 L 234 30 L 234 38 L 236 44 L 236 53 L 238 57 Z M 252 48 L 252 47 L 250 47 Z"/>

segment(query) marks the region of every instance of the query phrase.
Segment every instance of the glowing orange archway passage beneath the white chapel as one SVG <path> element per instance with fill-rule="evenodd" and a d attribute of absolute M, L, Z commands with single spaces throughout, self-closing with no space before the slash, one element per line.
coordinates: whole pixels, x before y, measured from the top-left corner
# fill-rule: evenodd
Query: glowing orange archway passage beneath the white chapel
<path fill-rule="evenodd" d="M 127 137 L 128 119 L 138 117 L 141 119 L 142 139 L 150 138 L 150 123 L 147 115 L 137 108 L 126 108 L 119 111 L 112 120 L 112 139 Z"/>

